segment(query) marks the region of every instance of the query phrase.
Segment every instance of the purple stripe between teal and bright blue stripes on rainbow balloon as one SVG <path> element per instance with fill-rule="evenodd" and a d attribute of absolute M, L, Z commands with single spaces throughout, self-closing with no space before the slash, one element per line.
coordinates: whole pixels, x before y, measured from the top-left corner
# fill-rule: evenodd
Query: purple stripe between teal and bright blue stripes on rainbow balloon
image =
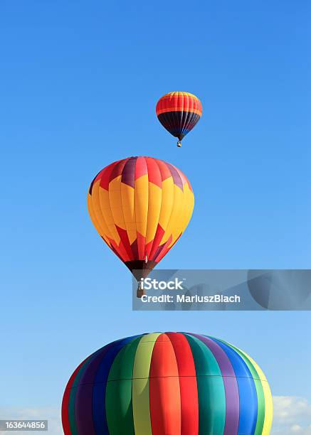
<path fill-rule="evenodd" d="M 223 375 L 223 385 L 225 387 L 226 394 L 226 422 L 223 434 L 238 434 L 240 397 L 238 394 L 238 382 L 236 380 L 236 374 L 233 370 L 232 364 L 223 349 L 221 349 L 221 347 L 213 340 L 199 334 L 191 335 L 199 338 L 199 340 L 201 340 L 201 342 L 204 343 L 209 350 L 211 350 L 216 358 L 218 366 L 221 370 L 221 374 Z"/>

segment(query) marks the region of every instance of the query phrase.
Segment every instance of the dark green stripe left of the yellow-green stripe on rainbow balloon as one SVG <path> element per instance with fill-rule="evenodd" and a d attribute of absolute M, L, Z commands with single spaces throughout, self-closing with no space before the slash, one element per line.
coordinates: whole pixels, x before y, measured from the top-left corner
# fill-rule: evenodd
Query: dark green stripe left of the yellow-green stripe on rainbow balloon
<path fill-rule="evenodd" d="M 106 387 L 106 416 L 111 435 L 135 435 L 132 377 L 140 335 L 117 354 L 109 372 Z"/>

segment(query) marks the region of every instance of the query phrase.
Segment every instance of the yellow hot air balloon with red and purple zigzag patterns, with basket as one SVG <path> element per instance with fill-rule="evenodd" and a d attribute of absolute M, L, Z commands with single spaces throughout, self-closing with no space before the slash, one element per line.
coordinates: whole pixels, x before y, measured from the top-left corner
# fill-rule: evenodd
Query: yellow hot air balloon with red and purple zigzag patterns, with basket
<path fill-rule="evenodd" d="M 88 192 L 97 232 L 139 282 L 179 239 L 193 208 L 194 194 L 184 173 L 152 157 L 111 163 Z"/>

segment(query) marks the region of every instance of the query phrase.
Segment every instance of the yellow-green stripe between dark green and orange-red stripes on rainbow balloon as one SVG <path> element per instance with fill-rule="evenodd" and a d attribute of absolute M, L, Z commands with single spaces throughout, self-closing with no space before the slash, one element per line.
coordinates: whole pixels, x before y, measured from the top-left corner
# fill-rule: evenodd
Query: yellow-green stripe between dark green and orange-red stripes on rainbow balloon
<path fill-rule="evenodd" d="M 132 383 L 135 435 L 152 435 L 149 407 L 149 371 L 154 343 L 159 333 L 147 334 L 137 346 Z"/>

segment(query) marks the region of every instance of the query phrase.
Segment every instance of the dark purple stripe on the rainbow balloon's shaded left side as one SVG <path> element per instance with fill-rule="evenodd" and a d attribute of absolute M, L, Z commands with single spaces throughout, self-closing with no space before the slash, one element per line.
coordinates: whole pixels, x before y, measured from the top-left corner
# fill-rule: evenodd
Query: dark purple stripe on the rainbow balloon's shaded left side
<path fill-rule="evenodd" d="M 93 382 L 102 359 L 116 343 L 110 343 L 98 351 L 98 355 L 88 363 L 79 380 L 75 395 L 75 419 L 79 435 L 96 434 L 93 424 Z"/>

